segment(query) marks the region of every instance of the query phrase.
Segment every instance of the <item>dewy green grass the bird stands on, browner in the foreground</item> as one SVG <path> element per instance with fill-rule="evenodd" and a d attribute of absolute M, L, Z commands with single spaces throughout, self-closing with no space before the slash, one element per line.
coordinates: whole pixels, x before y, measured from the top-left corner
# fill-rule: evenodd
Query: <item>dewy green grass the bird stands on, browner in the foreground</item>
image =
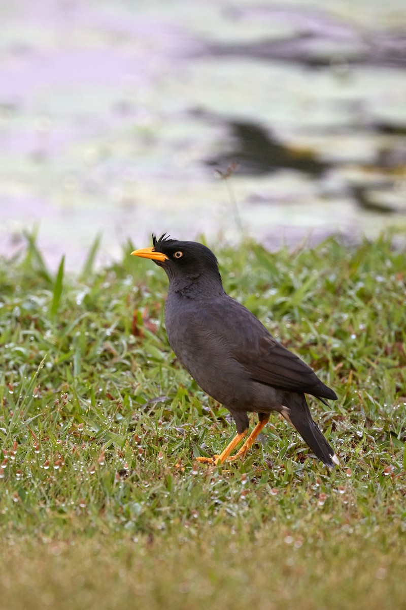
<path fill-rule="evenodd" d="M 197 465 L 233 422 L 175 361 L 163 271 L 128 243 L 96 272 L 98 243 L 77 278 L 32 235 L 0 261 L 0 608 L 402 607 L 405 253 L 217 252 L 226 290 L 337 392 L 311 403 L 329 473 L 276 415 L 245 461 Z"/>

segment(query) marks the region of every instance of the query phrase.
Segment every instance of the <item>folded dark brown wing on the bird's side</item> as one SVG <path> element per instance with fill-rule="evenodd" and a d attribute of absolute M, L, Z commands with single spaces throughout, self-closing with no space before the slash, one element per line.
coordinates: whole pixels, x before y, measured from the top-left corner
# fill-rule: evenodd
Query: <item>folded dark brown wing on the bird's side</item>
<path fill-rule="evenodd" d="M 211 331 L 228 342 L 230 355 L 254 381 L 290 392 L 336 398 L 312 368 L 274 339 L 254 314 L 231 297 L 211 300 L 203 317 Z"/>

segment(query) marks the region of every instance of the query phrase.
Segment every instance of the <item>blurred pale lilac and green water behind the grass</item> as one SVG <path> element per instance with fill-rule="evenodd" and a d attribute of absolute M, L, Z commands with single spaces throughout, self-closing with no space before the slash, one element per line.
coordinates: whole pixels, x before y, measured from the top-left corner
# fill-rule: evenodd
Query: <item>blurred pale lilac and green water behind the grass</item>
<path fill-rule="evenodd" d="M 406 235 L 404 0 L 0 2 L 0 253 Z M 403 238 L 402 238 L 403 236 Z"/>

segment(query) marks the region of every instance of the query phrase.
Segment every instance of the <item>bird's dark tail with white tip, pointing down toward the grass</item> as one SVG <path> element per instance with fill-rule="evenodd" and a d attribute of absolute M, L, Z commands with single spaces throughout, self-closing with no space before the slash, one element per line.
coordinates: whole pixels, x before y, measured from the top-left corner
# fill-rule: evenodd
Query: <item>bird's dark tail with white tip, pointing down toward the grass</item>
<path fill-rule="evenodd" d="M 313 422 L 304 394 L 285 394 L 281 414 L 299 432 L 313 453 L 329 468 L 340 465 L 323 432 Z"/>

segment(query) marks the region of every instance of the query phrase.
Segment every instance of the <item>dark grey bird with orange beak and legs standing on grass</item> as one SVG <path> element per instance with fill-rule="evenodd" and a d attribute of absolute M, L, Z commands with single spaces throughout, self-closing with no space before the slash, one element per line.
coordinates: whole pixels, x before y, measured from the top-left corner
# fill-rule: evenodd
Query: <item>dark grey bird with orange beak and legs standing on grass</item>
<path fill-rule="evenodd" d="M 305 397 L 309 394 L 327 404 L 326 399 L 337 400 L 334 390 L 271 336 L 250 310 L 226 294 L 219 263 L 209 248 L 170 239 L 165 233 L 159 239 L 153 233 L 152 243 L 131 254 L 152 259 L 169 278 L 165 302 L 169 344 L 198 386 L 223 404 L 236 422 L 237 434 L 220 455 L 197 460 L 217 465 L 244 458 L 276 411 L 329 469 L 339 465 Z M 248 413 L 256 413 L 258 422 L 247 437 Z"/>

